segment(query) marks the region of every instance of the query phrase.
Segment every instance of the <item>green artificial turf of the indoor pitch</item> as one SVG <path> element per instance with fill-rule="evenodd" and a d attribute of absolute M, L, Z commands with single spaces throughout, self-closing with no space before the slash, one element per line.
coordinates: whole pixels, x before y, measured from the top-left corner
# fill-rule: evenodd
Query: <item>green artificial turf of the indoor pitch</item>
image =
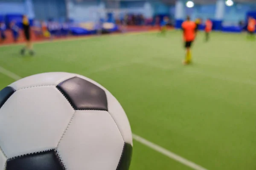
<path fill-rule="evenodd" d="M 256 42 L 199 33 L 182 65 L 180 31 L 0 47 L 0 66 L 20 77 L 49 71 L 99 82 L 125 109 L 133 133 L 208 170 L 256 169 Z M 0 73 L 0 88 L 14 80 Z M 134 142 L 131 170 L 189 170 Z"/>

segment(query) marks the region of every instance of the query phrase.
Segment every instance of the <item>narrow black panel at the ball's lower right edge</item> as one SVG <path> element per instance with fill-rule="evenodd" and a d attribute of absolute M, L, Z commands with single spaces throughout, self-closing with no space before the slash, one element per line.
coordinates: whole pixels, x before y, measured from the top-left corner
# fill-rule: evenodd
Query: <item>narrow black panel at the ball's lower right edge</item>
<path fill-rule="evenodd" d="M 131 146 L 131 144 L 124 144 L 122 156 L 119 160 L 119 164 L 116 170 L 129 170 L 131 164 L 132 149 L 133 147 Z"/>

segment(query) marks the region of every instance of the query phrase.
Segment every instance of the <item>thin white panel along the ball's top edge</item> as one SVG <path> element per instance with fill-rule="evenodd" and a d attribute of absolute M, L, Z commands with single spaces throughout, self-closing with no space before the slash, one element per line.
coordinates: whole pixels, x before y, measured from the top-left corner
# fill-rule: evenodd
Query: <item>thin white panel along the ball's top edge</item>
<path fill-rule="evenodd" d="M 60 82 L 75 76 L 75 74 L 64 72 L 42 73 L 20 79 L 17 82 L 12 83 L 10 86 L 15 90 L 44 85 L 56 86 Z"/>

